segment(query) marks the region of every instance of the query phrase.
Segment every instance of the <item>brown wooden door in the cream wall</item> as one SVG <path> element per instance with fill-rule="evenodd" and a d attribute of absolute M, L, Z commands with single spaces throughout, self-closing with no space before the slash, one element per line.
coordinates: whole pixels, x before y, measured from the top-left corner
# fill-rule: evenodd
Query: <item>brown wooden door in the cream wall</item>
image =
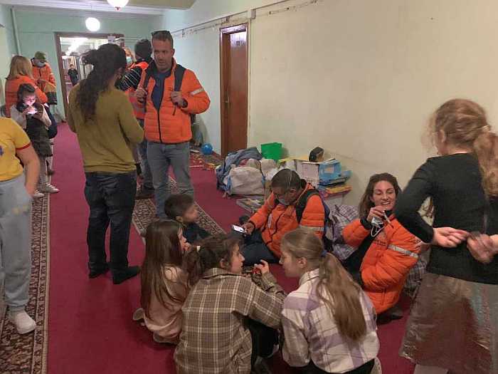
<path fill-rule="evenodd" d="M 221 154 L 248 146 L 247 24 L 221 29 Z"/>

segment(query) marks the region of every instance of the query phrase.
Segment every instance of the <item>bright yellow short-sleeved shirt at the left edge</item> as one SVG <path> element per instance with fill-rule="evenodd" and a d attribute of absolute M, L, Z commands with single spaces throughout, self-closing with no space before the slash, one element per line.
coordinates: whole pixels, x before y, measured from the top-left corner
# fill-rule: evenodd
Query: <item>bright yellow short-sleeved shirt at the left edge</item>
<path fill-rule="evenodd" d="M 23 173 L 16 152 L 30 144 L 21 126 L 10 118 L 0 118 L 0 182 L 12 180 Z"/>

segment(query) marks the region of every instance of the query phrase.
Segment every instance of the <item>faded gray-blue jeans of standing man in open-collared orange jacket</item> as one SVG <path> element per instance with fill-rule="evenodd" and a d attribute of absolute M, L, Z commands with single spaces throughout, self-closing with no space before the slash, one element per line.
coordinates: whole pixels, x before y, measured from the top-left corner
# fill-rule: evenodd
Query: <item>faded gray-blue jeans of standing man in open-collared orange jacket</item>
<path fill-rule="evenodd" d="M 194 187 L 190 180 L 189 142 L 177 144 L 148 142 L 147 160 L 149 160 L 154 182 L 156 213 L 160 219 L 166 219 L 164 202 L 169 197 L 169 165 L 173 168 L 180 193 L 194 197 Z"/>

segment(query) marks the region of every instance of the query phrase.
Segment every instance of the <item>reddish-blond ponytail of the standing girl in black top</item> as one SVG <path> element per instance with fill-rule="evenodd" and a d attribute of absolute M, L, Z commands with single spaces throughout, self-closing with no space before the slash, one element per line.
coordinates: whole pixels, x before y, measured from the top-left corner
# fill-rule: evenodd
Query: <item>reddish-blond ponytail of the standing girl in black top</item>
<path fill-rule="evenodd" d="M 484 131 L 472 145 L 479 161 L 482 187 L 488 196 L 498 196 L 498 135 Z"/>

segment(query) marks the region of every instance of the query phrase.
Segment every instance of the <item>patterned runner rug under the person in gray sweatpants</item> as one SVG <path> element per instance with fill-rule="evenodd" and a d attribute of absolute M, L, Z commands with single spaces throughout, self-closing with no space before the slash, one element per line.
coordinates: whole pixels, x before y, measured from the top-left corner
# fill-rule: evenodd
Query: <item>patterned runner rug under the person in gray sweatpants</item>
<path fill-rule="evenodd" d="M 48 348 L 48 289 L 50 266 L 49 197 L 33 200 L 33 243 L 29 302 L 26 311 L 36 320 L 34 333 L 19 335 L 0 314 L 0 373 L 45 374 Z M 3 292 L 1 296 L 3 296 Z"/>

